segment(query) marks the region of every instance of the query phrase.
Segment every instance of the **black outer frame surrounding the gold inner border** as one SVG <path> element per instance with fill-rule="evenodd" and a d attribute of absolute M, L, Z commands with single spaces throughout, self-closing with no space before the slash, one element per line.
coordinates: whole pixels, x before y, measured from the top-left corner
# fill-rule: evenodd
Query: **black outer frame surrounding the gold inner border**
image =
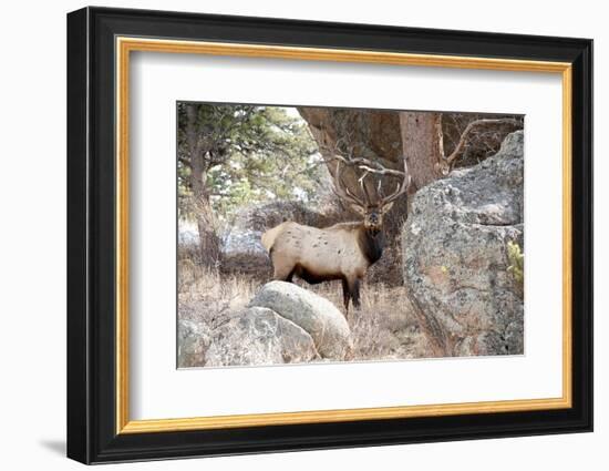
<path fill-rule="evenodd" d="M 572 408 L 115 433 L 115 35 L 572 63 Z M 85 8 L 68 14 L 68 457 L 84 463 L 592 430 L 592 41 Z"/>

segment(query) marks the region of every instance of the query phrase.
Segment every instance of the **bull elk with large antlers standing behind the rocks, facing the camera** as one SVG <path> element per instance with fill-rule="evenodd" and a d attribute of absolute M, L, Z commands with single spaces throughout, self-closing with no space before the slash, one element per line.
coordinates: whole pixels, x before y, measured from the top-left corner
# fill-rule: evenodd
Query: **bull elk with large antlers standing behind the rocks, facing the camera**
<path fill-rule="evenodd" d="M 374 170 L 370 166 L 360 168 L 365 172 L 359 178 L 363 198 L 343 185 L 340 161 L 337 163 L 333 192 L 362 216 L 361 222 L 317 228 L 288 221 L 267 231 L 261 238 L 272 263 L 273 279 L 291 283 L 296 275 L 311 285 L 340 279 L 345 315 L 349 314 L 350 300 L 355 308 L 360 307 L 362 278 L 368 268 L 383 254 L 383 216 L 391 209 L 394 201 L 406 192 L 410 183 L 404 157 L 403 174 L 396 171 L 378 171 L 403 175 L 403 181 L 386 197 L 381 197 L 379 181 L 376 202 L 372 202 L 364 177 Z"/>

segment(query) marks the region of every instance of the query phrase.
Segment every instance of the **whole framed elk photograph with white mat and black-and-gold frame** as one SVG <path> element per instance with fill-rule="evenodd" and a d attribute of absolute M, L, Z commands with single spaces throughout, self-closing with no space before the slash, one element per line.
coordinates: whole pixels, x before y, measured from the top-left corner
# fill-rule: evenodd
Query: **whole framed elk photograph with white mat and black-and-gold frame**
<path fill-rule="evenodd" d="M 592 41 L 68 16 L 68 455 L 592 430 Z"/>

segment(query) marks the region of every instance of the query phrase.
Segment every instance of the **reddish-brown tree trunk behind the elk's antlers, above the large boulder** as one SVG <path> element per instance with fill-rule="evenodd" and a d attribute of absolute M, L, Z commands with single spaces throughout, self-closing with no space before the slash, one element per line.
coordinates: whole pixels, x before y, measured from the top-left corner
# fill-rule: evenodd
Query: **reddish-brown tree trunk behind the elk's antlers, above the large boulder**
<path fill-rule="evenodd" d="M 412 177 L 409 188 L 412 194 L 443 176 L 442 114 L 400 112 L 400 131 Z"/>

